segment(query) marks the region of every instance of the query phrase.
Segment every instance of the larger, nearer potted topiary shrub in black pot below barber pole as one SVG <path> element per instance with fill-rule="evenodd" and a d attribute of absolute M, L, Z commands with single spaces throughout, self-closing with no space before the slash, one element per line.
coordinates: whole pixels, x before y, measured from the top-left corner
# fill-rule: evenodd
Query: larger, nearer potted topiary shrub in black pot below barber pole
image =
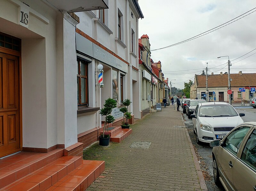
<path fill-rule="evenodd" d="M 105 100 L 104 107 L 100 109 L 100 115 L 105 116 L 103 133 L 99 136 L 100 145 L 108 146 L 110 141 L 110 133 L 108 132 L 108 125 L 115 121 L 111 115 L 112 110 L 116 107 L 116 101 L 112 98 Z"/>

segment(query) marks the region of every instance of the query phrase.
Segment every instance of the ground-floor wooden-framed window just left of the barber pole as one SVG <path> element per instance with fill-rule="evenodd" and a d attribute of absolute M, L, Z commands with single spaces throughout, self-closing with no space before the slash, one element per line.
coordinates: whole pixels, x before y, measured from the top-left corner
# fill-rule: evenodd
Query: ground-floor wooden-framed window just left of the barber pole
<path fill-rule="evenodd" d="M 88 62 L 77 60 L 77 104 L 88 104 Z"/>

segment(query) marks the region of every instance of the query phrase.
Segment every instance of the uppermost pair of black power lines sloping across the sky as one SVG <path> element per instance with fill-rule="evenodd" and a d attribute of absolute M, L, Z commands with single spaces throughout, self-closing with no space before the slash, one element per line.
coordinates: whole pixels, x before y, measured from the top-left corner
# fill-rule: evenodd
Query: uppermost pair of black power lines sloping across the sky
<path fill-rule="evenodd" d="M 254 9 L 256 9 L 256 7 L 253 8 L 252 10 L 254 10 Z M 250 10 L 250 11 L 252 11 L 252 10 Z M 246 13 L 248 13 L 248 12 L 250 12 L 250 11 L 247 11 L 247 12 L 245 12 L 244 14 L 246 14 Z M 255 11 L 252 11 L 251 13 L 249 13 L 249 14 L 247 14 L 247 15 L 250 15 L 250 14 L 252 14 L 253 12 L 255 12 Z M 242 15 L 244 15 L 244 14 L 242 14 Z M 238 16 L 238 17 L 241 17 L 242 15 L 240 15 L 240 16 Z M 247 15 L 245 15 L 244 17 L 246 17 Z M 238 18 L 238 17 L 236 17 L 236 18 Z M 244 17 L 241 17 L 241 18 L 244 18 Z M 233 18 L 232 20 L 235 20 L 236 18 Z M 237 20 L 239 20 L 239 19 L 241 19 L 241 18 L 238 18 Z M 232 21 L 232 20 L 230 20 L 230 21 Z M 237 21 L 237 20 L 235 20 L 235 21 Z M 233 21 L 233 22 L 229 23 L 230 21 L 227 21 L 226 23 L 223 23 L 222 25 L 227 26 L 227 25 L 229 25 L 229 24 L 235 22 L 235 21 Z M 227 23 L 228 23 L 228 24 L 227 24 Z M 227 24 L 227 25 L 225 25 L 225 24 Z M 194 36 L 194 37 L 191 37 L 191 38 L 189 38 L 189 39 L 187 39 L 187 40 L 183 40 L 183 41 L 181 41 L 181 42 L 178 42 L 178 43 L 175 43 L 175 44 L 172 44 L 172 45 L 163 47 L 163 48 L 157 48 L 157 49 L 154 49 L 154 50 L 160 50 L 160 49 L 164 49 L 164 48 L 169 48 L 169 47 L 172 47 L 172 46 L 176 46 L 176 45 L 182 44 L 182 43 L 184 43 L 184 42 L 188 42 L 188 41 L 190 41 L 190 40 L 197 39 L 197 38 L 199 38 L 199 37 L 201 37 L 201 36 L 204 36 L 204 35 L 206 35 L 206 34 L 209 34 L 209 33 L 213 32 L 213 31 L 216 31 L 216 30 L 218 30 L 218 29 L 224 27 L 224 26 L 222 26 L 222 25 L 216 26 L 216 27 L 214 27 L 214 28 L 212 28 L 212 29 L 210 29 L 210 30 L 208 30 L 208 31 L 205 31 L 205 32 L 203 32 L 203 33 L 201 33 L 201 34 L 198 34 L 198 35 L 196 35 L 196 36 Z M 221 26 L 221 27 L 220 27 L 220 26 Z M 218 28 L 218 27 L 219 27 L 219 28 Z M 217 28 L 217 29 L 216 29 L 216 28 Z M 213 29 L 215 29 L 215 30 L 213 30 Z M 209 31 L 211 31 L 211 32 L 209 32 Z M 207 32 L 209 32 L 209 33 L 207 33 Z M 204 33 L 205 33 L 205 34 L 204 34 Z M 201 35 L 201 36 L 200 36 L 200 35 Z M 151 50 L 151 51 L 154 51 L 154 50 Z"/>

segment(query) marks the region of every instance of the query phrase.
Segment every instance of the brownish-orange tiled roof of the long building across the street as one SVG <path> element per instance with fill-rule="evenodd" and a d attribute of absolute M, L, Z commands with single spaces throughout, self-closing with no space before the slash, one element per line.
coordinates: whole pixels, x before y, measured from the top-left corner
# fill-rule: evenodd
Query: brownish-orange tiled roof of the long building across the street
<path fill-rule="evenodd" d="M 245 87 L 245 86 L 256 86 L 256 73 L 250 74 L 230 74 L 231 87 Z M 206 87 L 206 76 L 196 75 L 195 81 L 197 87 Z M 228 86 L 228 75 L 220 74 L 208 76 L 208 87 L 227 87 Z"/>

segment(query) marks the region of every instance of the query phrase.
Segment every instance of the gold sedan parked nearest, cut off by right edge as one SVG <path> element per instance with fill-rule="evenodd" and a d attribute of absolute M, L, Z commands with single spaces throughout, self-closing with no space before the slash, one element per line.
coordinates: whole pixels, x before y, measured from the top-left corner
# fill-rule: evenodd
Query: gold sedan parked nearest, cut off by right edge
<path fill-rule="evenodd" d="M 227 191 L 256 191 L 256 122 L 242 123 L 210 145 L 215 183 Z"/>

